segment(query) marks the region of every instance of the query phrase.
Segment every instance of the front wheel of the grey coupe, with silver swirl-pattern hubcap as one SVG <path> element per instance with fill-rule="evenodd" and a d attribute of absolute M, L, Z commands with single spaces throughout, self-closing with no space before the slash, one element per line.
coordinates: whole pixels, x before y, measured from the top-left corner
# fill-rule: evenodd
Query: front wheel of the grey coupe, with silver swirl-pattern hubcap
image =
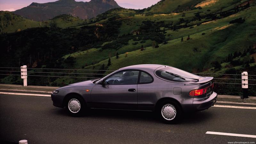
<path fill-rule="evenodd" d="M 78 117 L 84 115 L 86 105 L 81 97 L 73 95 L 66 101 L 66 109 L 70 116 Z"/>

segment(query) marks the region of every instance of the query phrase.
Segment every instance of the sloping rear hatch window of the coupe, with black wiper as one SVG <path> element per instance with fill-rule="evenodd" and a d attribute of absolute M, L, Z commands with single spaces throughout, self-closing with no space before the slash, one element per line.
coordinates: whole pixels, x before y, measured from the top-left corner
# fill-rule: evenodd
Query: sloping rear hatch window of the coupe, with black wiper
<path fill-rule="evenodd" d="M 180 75 L 182 77 L 172 75 L 171 73 Z M 163 68 L 163 69 L 157 70 L 156 75 L 163 79 L 170 80 L 170 81 L 177 81 L 177 82 L 191 81 L 192 79 L 190 79 L 190 78 L 193 78 L 193 79 L 200 78 L 200 76 L 197 76 L 197 75 L 191 74 L 189 72 L 186 72 L 184 70 L 181 70 L 178 68 L 173 68 L 173 67 L 168 67 L 168 68 Z"/>

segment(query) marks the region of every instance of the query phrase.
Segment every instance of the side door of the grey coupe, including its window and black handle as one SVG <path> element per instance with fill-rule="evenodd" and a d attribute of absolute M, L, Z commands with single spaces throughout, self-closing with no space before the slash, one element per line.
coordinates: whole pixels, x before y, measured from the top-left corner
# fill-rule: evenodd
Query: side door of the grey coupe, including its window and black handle
<path fill-rule="evenodd" d="M 124 70 L 109 76 L 92 88 L 94 108 L 137 109 L 138 70 Z"/>

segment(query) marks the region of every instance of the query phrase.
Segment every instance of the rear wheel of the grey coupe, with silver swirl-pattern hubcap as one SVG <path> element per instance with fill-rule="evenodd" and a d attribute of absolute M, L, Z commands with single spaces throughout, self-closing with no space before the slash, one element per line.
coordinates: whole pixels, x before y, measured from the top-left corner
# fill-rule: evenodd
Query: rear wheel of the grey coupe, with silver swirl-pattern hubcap
<path fill-rule="evenodd" d="M 157 108 L 156 114 L 166 124 L 176 124 L 182 115 L 180 105 L 174 101 L 163 101 Z"/>

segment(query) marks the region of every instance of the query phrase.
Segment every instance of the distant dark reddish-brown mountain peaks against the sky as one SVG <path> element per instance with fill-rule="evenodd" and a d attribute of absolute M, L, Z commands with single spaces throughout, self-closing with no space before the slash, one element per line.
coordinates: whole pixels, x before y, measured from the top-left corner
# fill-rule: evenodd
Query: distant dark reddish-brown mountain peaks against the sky
<path fill-rule="evenodd" d="M 61 14 L 69 14 L 81 19 L 90 19 L 100 13 L 120 7 L 115 0 L 91 0 L 76 2 L 75 0 L 58 0 L 50 3 L 32 3 L 13 13 L 29 20 L 49 20 Z"/>

